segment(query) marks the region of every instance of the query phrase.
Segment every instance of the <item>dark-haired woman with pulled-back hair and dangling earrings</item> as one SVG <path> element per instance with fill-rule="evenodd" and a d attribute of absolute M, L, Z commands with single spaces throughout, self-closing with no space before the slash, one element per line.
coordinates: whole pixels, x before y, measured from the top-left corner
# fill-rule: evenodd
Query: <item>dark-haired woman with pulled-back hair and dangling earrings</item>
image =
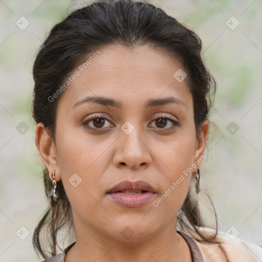
<path fill-rule="evenodd" d="M 145 2 L 95 2 L 53 27 L 33 67 L 45 261 L 261 261 L 198 208 L 215 92 L 201 49 Z M 57 254 L 60 232 L 76 242 Z"/>

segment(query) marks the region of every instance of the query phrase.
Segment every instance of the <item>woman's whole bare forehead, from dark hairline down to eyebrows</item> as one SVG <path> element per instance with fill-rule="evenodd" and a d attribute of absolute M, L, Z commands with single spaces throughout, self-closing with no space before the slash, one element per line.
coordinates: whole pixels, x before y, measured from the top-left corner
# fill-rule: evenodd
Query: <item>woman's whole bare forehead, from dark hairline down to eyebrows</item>
<path fill-rule="evenodd" d="M 174 77 L 178 70 L 185 71 L 174 57 L 148 46 L 107 46 L 99 51 L 99 55 L 86 57 L 88 62 L 72 72 L 77 77 L 63 94 L 62 103 L 73 107 L 90 95 L 118 97 L 130 104 L 172 95 L 190 102 L 186 81 Z"/>

